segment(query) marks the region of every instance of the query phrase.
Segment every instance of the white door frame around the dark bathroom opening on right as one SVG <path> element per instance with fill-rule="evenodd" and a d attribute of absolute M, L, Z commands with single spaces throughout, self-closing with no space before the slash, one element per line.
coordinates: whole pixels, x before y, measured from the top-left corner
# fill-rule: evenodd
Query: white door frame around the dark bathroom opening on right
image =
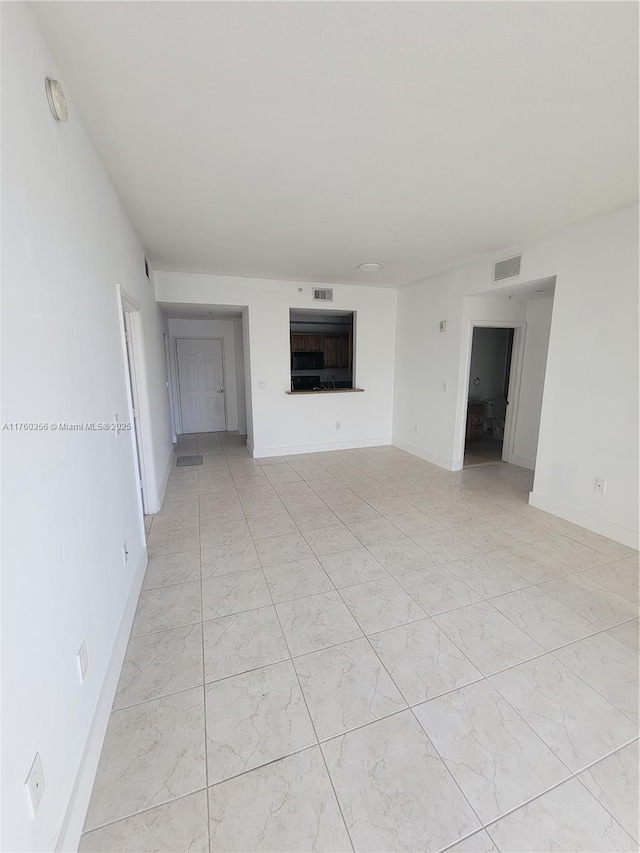
<path fill-rule="evenodd" d="M 473 347 L 473 330 L 513 329 L 511 346 L 511 368 L 509 373 L 509 388 L 507 399 L 509 405 L 504 421 L 504 438 L 502 440 L 502 461 L 511 462 L 514 453 L 516 425 L 518 423 L 518 407 L 520 404 L 520 385 L 522 380 L 522 365 L 524 362 L 524 341 L 527 324 L 524 320 L 469 320 L 467 334 L 463 339 L 463 361 L 465 369 L 458 397 L 458 412 L 464 416 L 458 418 L 458 430 L 455 437 L 454 458 L 460 459 L 460 468 L 464 467 L 464 450 L 466 444 L 467 403 L 469 399 L 469 379 L 471 375 L 471 350 Z"/>

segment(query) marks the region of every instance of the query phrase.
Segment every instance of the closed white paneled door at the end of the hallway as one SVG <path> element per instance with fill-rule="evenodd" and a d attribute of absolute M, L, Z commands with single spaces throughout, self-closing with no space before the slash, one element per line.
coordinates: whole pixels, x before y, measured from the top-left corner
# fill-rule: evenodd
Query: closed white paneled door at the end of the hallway
<path fill-rule="evenodd" d="M 177 338 L 176 350 L 182 431 L 226 429 L 222 341 Z"/>

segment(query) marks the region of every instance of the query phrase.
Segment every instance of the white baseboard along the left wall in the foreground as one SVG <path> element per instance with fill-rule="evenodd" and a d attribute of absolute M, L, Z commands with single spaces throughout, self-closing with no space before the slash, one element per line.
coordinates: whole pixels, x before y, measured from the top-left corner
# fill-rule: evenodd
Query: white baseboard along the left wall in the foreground
<path fill-rule="evenodd" d="M 107 731 L 109 715 L 111 714 L 111 706 L 116 695 L 118 680 L 120 678 L 120 670 L 122 662 L 127 651 L 129 642 L 129 634 L 133 625 L 133 617 L 136 613 L 138 605 L 138 596 L 142 587 L 145 569 L 147 567 L 147 548 L 146 545 L 140 552 L 138 565 L 136 566 L 131 590 L 125 605 L 124 613 L 120 621 L 120 627 L 116 641 L 111 652 L 111 659 L 107 667 L 107 673 L 100 691 L 100 698 L 96 706 L 89 737 L 84 748 L 78 774 L 76 776 L 75 785 L 71 793 L 69 805 L 62 822 L 62 828 L 58 834 L 58 840 L 55 845 L 56 853 L 75 853 L 80 844 L 80 836 L 82 835 L 82 827 L 84 826 L 91 791 L 98 769 L 100 753 L 102 752 L 102 744 Z"/>

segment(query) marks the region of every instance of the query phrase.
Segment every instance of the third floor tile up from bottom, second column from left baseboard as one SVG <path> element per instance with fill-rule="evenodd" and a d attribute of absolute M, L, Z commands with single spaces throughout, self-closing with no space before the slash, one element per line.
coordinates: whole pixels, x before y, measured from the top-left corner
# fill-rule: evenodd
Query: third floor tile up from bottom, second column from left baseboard
<path fill-rule="evenodd" d="M 204 623 L 205 681 L 277 663 L 289 657 L 273 606 Z"/>

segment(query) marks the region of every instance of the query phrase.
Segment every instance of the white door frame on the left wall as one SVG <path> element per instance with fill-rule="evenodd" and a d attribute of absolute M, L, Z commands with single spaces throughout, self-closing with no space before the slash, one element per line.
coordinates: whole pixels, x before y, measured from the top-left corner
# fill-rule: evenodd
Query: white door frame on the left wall
<path fill-rule="evenodd" d="M 140 522 L 144 531 L 144 515 L 158 511 L 157 483 L 151 448 L 151 417 L 148 397 L 148 378 L 144 358 L 144 335 L 140 305 L 122 287 L 116 285 L 118 319 L 124 359 L 124 379 L 127 389 L 127 414 L 131 424 L 131 448 L 140 506 Z M 127 315 L 129 330 L 125 324 Z M 131 359 L 127 351 L 127 335 L 130 335 Z M 134 412 L 134 405 L 136 406 Z M 143 536 L 143 541 L 144 541 Z"/>

